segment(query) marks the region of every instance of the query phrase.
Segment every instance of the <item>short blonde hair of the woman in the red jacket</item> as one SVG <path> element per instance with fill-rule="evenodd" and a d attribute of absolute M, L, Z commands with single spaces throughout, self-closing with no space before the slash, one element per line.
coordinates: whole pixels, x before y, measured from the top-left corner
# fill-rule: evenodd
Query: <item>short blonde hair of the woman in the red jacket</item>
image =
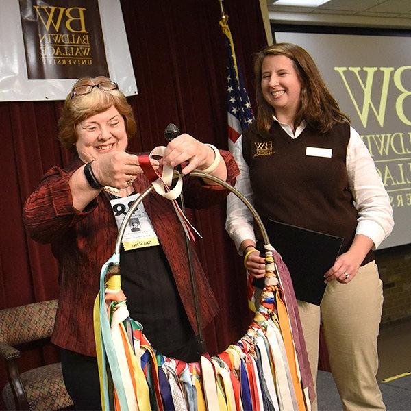
<path fill-rule="evenodd" d="M 75 82 L 73 88 L 86 84 L 95 85 L 111 81 L 105 76 L 94 78 L 82 77 Z M 90 116 L 108 110 L 112 105 L 123 116 L 128 138 L 136 134 L 137 125 L 132 106 L 129 105 L 125 95 L 119 89 L 101 90 L 98 87 L 93 87 L 91 92 L 86 95 L 73 96 L 73 88 L 71 88 L 69 95 L 64 101 L 62 115 L 58 121 L 58 139 L 63 147 L 75 150 L 75 143 L 78 138 L 75 126 Z"/>

